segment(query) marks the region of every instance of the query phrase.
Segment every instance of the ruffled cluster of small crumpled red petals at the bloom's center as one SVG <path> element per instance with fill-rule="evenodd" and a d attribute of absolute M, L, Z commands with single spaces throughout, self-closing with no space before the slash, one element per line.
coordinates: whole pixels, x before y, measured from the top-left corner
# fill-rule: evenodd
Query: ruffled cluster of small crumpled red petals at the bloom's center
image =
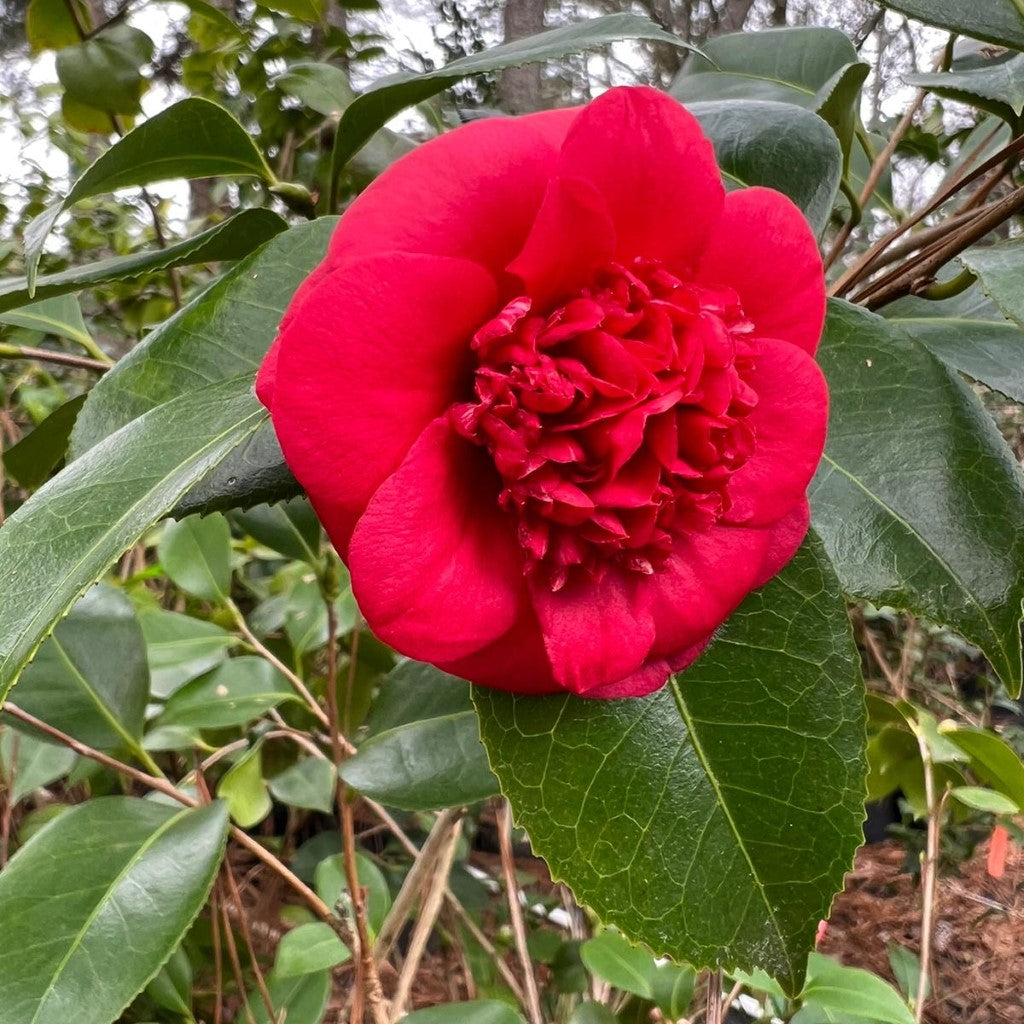
<path fill-rule="evenodd" d="M 480 328 L 475 399 L 452 421 L 494 458 L 528 572 L 554 591 L 609 565 L 650 574 L 728 511 L 755 443 L 753 330 L 734 292 L 650 260 L 612 264 L 548 316 L 513 299 Z"/>

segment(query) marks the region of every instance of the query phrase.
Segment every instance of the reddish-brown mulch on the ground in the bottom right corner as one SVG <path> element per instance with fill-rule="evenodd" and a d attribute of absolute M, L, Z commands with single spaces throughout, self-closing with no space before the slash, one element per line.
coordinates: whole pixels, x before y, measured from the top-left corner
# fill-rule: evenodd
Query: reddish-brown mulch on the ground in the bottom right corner
<path fill-rule="evenodd" d="M 1006 873 L 986 870 L 988 846 L 938 882 L 934 995 L 928 1024 L 1024 1024 L 1024 850 L 1010 845 Z M 888 949 L 921 948 L 921 892 L 896 842 L 864 847 L 837 898 L 821 952 L 893 981 Z"/>

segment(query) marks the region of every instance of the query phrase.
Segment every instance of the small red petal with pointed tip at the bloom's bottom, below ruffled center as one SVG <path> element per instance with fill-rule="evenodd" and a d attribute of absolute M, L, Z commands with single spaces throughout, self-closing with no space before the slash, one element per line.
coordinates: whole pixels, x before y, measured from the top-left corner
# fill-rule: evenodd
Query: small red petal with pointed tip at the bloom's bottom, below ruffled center
<path fill-rule="evenodd" d="M 555 681 L 585 694 L 640 669 L 654 642 L 654 623 L 637 581 L 609 569 L 599 583 L 570 580 L 552 593 L 530 583 L 534 608 Z"/>

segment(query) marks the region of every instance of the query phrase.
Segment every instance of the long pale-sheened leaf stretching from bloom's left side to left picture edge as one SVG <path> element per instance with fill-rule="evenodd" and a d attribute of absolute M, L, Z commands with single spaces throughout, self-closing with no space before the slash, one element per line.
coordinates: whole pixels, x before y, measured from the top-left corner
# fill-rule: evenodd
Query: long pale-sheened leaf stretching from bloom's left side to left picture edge
<path fill-rule="evenodd" d="M 197 388 L 66 467 L 4 523 L 0 700 L 79 594 L 265 420 L 249 375 Z"/>

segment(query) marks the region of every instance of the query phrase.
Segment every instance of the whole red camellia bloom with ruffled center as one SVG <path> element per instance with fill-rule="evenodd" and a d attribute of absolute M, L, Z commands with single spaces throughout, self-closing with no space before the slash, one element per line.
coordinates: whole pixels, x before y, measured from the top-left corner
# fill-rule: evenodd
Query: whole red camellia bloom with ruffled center
<path fill-rule="evenodd" d="M 367 622 L 520 693 L 638 696 L 808 525 L 827 392 L 794 204 L 669 96 L 458 128 L 351 205 L 257 379 Z"/>

